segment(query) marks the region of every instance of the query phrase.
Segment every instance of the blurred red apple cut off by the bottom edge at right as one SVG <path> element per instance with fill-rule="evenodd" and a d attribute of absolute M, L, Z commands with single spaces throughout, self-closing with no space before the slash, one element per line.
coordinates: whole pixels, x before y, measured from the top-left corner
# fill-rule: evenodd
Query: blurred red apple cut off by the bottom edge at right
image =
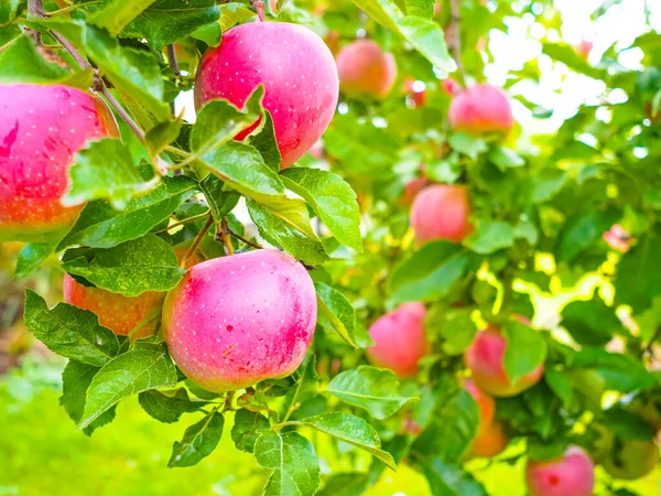
<path fill-rule="evenodd" d="M 553 460 L 528 462 L 525 482 L 530 496 L 592 496 L 595 465 L 578 446 L 570 446 Z"/>

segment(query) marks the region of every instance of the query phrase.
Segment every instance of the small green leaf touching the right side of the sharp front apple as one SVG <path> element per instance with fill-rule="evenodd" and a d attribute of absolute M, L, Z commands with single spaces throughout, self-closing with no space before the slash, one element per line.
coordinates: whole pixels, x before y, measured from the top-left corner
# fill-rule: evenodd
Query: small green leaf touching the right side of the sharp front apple
<path fill-rule="evenodd" d="M 354 330 L 356 311 L 347 298 L 323 282 L 315 282 L 317 293 L 317 323 L 327 330 L 335 331 L 349 345 L 358 348 Z"/>

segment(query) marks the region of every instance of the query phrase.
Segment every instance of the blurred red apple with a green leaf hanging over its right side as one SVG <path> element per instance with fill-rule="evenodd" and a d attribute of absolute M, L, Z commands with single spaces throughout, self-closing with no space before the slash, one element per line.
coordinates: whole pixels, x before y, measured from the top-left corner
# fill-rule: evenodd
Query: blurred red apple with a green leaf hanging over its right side
<path fill-rule="evenodd" d="M 477 333 L 464 353 L 464 362 L 475 384 L 483 391 L 499 397 L 514 396 L 534 386 L 544 371 L 542 364 L 520 378 L 517 384 L 512 384 L 502 365 L 506 345 L 500 331 L 495 326 L 488 326 Z"/>

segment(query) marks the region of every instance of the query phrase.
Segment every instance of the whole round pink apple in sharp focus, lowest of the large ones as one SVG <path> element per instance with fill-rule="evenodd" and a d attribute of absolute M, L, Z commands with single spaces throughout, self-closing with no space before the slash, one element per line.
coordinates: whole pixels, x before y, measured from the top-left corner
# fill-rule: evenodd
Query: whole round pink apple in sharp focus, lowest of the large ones
<path fill-rule="evenodd" d="M 291 375 L 310 347 L 316 316 L 305 268 L 262 249 L 193 267 L 167 293 L 162 322 L 182 371 L 224 392 Z"/>

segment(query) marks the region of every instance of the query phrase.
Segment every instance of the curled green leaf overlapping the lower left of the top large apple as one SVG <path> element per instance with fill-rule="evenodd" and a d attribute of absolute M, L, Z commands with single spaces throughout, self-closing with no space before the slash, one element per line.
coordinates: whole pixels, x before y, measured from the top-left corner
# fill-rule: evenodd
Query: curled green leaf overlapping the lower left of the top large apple
<path fill-rule="evenodd" d="M 210 100 L 199 112 L 191 133 L 191 148 L 204 155 L 231 140 L 243 129 L 254 123 L 261 115 L 264 87 L 259 85 L 238 109 L 227 100 Z M 263 160 L 262 160 L 263 161 Z"/>

